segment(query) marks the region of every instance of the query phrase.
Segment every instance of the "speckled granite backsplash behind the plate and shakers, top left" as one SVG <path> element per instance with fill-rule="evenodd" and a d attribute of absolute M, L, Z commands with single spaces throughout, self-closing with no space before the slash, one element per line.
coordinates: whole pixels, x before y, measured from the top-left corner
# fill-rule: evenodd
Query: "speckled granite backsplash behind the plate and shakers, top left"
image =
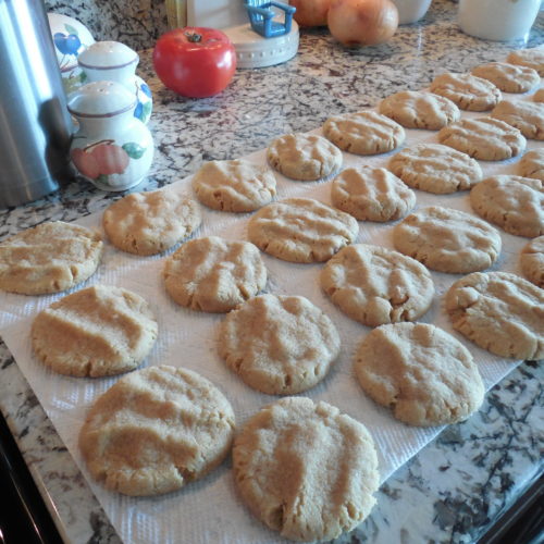
<path fill-rule="evenodd" d="M 83 23 L 97 41 L 122 41 L 136 50 L 153 47 L 169 29 L 164 0 L 46 0 L 45 5 Z"/>

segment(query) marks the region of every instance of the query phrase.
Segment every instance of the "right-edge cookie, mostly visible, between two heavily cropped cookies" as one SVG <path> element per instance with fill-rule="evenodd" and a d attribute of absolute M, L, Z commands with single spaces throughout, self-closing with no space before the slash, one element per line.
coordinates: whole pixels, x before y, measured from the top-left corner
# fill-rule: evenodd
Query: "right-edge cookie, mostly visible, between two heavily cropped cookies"
<path fill-rule="evenodd" d="M 542 182 L 518 175 L 494 175 L 470 191 L 470 206 L 483 219 L 517 236 L 544 234 Z"/>

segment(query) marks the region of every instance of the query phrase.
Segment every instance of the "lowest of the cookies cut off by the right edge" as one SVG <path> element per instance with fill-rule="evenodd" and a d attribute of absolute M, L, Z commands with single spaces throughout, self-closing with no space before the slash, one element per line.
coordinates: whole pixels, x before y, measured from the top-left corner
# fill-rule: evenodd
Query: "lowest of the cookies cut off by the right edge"
<path fill-rule="evenodd" d="M 544 357 L 544 290 L 516 274 L 472 272 L 446 293 L 454 327 L 500 357 Z"/>

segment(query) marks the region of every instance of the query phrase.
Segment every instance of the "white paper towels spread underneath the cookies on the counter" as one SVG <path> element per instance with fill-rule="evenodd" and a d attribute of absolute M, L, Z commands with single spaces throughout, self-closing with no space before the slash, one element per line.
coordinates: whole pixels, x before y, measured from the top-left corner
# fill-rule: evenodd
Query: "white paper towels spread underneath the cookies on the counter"
<path fill-rule="evenodd" d="M 528 95 L 506 95 L 508 99 L 530 100 Z M 462 112 L 462 116 L 481 114 Z M 320 134 L 320 129 L 313 131 Z M 436 133 L 407 129 L 404 147 L 418 143 L 436 143 Z M 528 150 L 541 144 L 528 141 Z M 357 164 L 384 166 L 393 153 L 358 157 L 344 153 L 343 168 Z M 265 162 L 265 151 L 247 157 Z M 516 173 L 519 158 L 503 162 L 481 162 L 484 176 L 497 173 Z M 295 182 L 277 178 L 277 199 L 294 196 L 316 198 L 331 203 L 331 180 Z M 190 176 L 169 186 L 191 195 Z M 469 193 L 431 195 L 416 190 L 416 209 L 440 205 L 471 212 Z M 233 214 L 202 207 L 202 225 L 195 237 L 219 235 L 227 239 L 247 239 L 246 227 L 250 214 Z M 77 221 L 100 232 L 101 212 Z M 378 244 L 393 249 L 392 228 L 396 222 L 359 222 L 358 243 Z M 500 231 L 503 250 L 491 270 L 519 273 L 519 252 L 528 239 Z M 245 385 L 218 356 L 217 327 L 222 314 L 195 312 L 175 305 L 166 295 L 161 271 L 168 254 L 154 257 L 136 257 L 116 250 L 106 243 L 104 256 L 97 273 L 76 287 L 95 283 L 118 285 L 144 296 L 151 305 L 159 322 L 159 338 L 143 367 L 172 364 L 195 370 L 212 381 L 231 400 L 237 424 L 240 425 L 260 407 L 274 401 L 271 396 L 252 391 Z M 329 375 L 319 385 L 302 395 L 313 400 L 325 400 L 358 419 L 371 432 L 379 453 L 381 481 L 406 462 L 429 443 L 442 428 L 418 429 L 396 421 L 390 411 L 376 406 L 364 396 L 353 371 L 353 356 L 357 345 L 370 331 L 369 327 L 345 317 L 321 292 L 319 273 L 323 263 L 295 264 L 262 254 L 269 271 L 265 290 L 276 295 L 301 295 L 320 307 L 334 321 L 342 337 L 342 351 Z M 433 323 L 459 338 L 472 353 L 486 388 L 502 380 L 520 361 L 504 360 L 478 348 L 455 332 L 444 311 L 443 295 L 461 275 L 431 272 L 435 296 L 431 309 L 420 319 Z M 72 289 L 72 290 L 76 290 Z M 124 542 L 187 542 L 198 543 L 273 543 L 283 542 L 279 535 L 257 521 L 239 500 L 234 487 L 228 457 L 217 470 L 200 481 L 190 483 L 178 492 L 159 497 L 126 497 L 104 490 L 86 471 L 77 449 L 77 434 L 92 401 L 119 379 L 75 379 L 57 375 L 46 369 L 33 355 L 29 330 L 34 317 L 66 293 L 41 297 L 27 297 L 0 293 L 0 332 L 18 367 L 28 380 L 39 401 L 57 428 L 66 447 L 82 469 L 98 500 Z"/>

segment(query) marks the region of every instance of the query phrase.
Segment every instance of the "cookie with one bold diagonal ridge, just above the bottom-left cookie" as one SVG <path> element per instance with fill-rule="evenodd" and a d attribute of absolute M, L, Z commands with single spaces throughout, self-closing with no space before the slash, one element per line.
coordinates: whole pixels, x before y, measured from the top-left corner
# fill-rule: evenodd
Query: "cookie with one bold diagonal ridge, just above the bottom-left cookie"
<path fill-rule="evenodd" d="M 157 333 L 144 298 L 120 287 L 94 285 L 38 313 L 30 337 L 38 359 L 54 372 L 103 376 L 138 367 Z"/>

